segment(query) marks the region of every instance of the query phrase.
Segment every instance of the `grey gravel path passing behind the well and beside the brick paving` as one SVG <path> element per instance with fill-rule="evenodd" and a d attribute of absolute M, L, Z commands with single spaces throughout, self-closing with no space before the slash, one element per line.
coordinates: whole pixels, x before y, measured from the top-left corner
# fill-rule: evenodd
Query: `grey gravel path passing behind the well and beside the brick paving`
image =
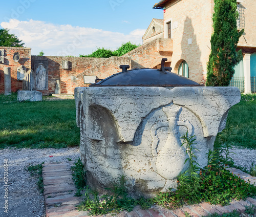
<path fill-rule="evenodd" d="M 251 163 L 256 164 L 256 150 L 232 149 L 234 162 L 240 166 L 250 168 Z M 75 160 L 79 154 L 76 148 L 47 148 L 47 149 L 2 149 L 0 150 L 0 216 L 45 216 L 44 197 L 40 194 L 37 179 L 30 176 L 26 170 L 29 165 L 42 162 L 68 162 L 68 158 Z M 53 157 L 49 157 L 53 156 Z M 4 163 L 8 159 L 8 213 L 4 212 L 5 186 Z"/>

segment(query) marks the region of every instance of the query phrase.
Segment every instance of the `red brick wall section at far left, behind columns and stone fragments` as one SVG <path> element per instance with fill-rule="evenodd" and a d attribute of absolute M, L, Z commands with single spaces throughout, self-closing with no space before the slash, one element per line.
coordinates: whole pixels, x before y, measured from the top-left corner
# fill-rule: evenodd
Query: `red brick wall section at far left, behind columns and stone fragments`
<path fill-rule="evenodd" d="M 2 56 L 4 57 L 4 63 L 0 62 L 0 94 L 5 93 L 5 67 L 11 68 L 11 91 L 22 90 L 22 81 L 17 80 L 17 68 L 25 66 L 27 69 L 31 69 L 31 48 L 0 47 L 0 50 L 4 50 L 4 56 Z M 15 53 L 20 55 L 17 62 L 13 59 Z"/>

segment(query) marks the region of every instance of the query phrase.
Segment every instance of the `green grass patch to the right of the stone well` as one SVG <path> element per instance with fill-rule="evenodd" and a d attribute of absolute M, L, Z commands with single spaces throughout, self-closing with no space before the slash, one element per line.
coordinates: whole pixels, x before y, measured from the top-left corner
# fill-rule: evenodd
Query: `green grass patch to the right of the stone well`
<path fill-rule="evenodd" d="M 232 106 L 228 118 L 234 125 L 233 145 L 256 148 L 256 94 L 242 95 Z"/>

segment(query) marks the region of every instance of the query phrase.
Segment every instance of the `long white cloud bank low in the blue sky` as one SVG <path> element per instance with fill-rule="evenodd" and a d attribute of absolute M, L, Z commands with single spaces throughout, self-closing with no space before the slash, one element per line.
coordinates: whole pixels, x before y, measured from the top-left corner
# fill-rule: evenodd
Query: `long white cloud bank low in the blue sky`
<path fill-rule="evenodd" d="M 2 22 L 1 26 L 10 29 L 10 33 L 23 40 L 26 47 L 32 48 L 32 55 L 37 55 L 42 50 L 48 56 L 89 54 L 97 47 L 115 50 L 127 41 L 141 44 L 145 33 L 143 29 L 136 29 L 125 35 L 101 29 L 54 25 L 32 19 L 10 19 L 9 22 Z"/>

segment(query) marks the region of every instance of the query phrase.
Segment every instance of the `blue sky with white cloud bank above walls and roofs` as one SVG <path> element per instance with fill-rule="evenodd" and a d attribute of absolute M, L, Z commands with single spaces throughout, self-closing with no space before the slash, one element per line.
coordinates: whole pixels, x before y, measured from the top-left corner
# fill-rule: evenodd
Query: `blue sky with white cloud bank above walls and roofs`
<path fill-rule="evenodd" d="M 158 0 L 8 0 L 1 4 L 1 28 L 51 56 L 89 54 L 97 47 L 116 49 L 122 42 L 141 44 Z"/>

